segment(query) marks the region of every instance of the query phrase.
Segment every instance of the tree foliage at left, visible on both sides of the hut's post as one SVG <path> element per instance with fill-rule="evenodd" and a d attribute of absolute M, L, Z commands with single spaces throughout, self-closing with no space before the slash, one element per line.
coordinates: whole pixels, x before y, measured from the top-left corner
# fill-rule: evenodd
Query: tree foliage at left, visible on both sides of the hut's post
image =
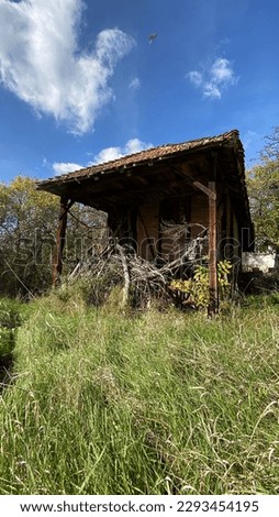
<path fill-rule="evenodd" d="M 75 205 L 70 212 L 66 272 L 83 257 L 103 226 L 102 215 L 93 209 Z M 58 215 L 58 198 L 36 190 L 34 179 L 18 176 L 10 185 L 0 184 L 1 295 L 26 296 L 51 286 Z"/>

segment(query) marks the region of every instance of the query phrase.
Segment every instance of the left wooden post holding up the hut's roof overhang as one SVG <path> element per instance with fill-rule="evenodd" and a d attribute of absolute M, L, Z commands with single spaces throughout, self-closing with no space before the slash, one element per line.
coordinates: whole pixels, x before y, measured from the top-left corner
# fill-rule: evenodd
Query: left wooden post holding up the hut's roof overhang
<path fill-rule="evenodd" d="M 59 277 L 63 271 L 63 250 L 65 246 L 67 215 L 68 215 L 68 210 L 70 206 L 68 206 L 68 198 L 65 196 L 62 196 L 60 197 L 59 224 L 58 224 L 57 233 L 56 233 L 56 250 L 55 250 L 55 255 L 54 255 L 54 261 L 53 261 L 53 285 L 55 287 L 59 285 Z"/>

